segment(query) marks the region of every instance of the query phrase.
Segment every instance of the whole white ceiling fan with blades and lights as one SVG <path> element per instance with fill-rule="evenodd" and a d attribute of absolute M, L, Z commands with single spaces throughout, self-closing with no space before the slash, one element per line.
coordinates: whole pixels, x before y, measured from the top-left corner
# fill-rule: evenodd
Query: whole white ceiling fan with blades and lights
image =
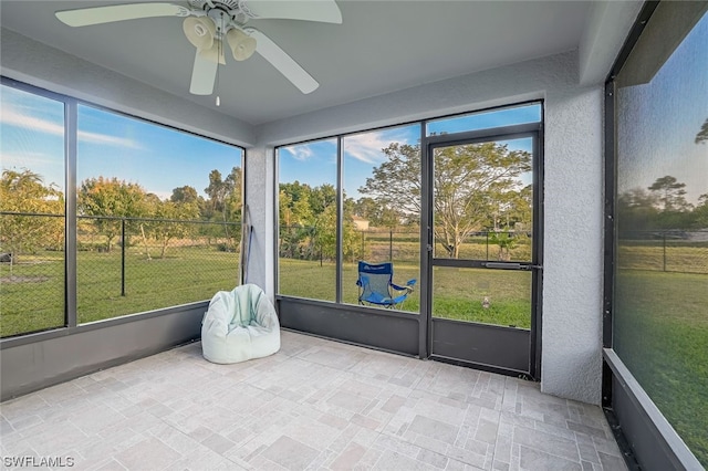
<path fill-rule="evenodd" d="M 214 92 L 219 64 L 226 64 L 225 46 L 237 61 L 244 61 L 258 52 L 302 93 L 314 92 L 320 84 L 270 38 L 247 22 L 251 19 L 287 19 L 342 23 L 342 13 L 334 0 L 189 0 L 189 8 L 164 2 L 126 3 L 58 11 L 55 15 L 70 27 L 139 18 L 184 18 L 185 35 L 197 48 L 189 86 L 195 95 Z"/>

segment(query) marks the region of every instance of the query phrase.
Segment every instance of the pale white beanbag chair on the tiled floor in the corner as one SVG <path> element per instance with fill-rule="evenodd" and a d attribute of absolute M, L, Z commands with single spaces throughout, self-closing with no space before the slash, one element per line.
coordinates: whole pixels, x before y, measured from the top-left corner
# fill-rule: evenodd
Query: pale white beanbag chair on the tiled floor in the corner
<path fill-rule="evenodd" d="M 219 291 L 201 322 L 201 352 L 212 363 L 239 363 L 280 349 L 275 307 L 254 284 Z"/>

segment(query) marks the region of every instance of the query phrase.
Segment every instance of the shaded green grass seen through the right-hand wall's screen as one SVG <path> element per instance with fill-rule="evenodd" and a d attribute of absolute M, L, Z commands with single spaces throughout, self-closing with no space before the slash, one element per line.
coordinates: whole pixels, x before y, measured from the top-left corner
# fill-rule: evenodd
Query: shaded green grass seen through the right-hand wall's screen
<path fill-rule="evenodd" d="M 708 274 L 621 270 L 614 348 L 708 468 Z"/>

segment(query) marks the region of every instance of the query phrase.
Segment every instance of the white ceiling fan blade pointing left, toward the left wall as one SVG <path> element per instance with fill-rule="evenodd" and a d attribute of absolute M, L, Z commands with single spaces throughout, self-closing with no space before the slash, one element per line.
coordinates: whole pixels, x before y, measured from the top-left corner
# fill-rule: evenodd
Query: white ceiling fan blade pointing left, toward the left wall
<path fill-rule="evenodd" d="M 190 11 L 186 7 L 174 3 L 128 3 L 64 10 L 54 14 L 60 21 L 70 27 L 87 27 L 138 18 L 189 17 Z"/>

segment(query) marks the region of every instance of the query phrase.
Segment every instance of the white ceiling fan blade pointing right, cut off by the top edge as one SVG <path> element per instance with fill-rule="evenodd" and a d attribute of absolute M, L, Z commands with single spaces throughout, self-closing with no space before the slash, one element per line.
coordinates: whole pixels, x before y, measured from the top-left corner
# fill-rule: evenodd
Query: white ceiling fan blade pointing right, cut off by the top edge
<path fill-rule="evenodd" d="M 246 4 L 256 18 L 342 24 L 342 12 L 334 0 L 248 0 Z"/>

